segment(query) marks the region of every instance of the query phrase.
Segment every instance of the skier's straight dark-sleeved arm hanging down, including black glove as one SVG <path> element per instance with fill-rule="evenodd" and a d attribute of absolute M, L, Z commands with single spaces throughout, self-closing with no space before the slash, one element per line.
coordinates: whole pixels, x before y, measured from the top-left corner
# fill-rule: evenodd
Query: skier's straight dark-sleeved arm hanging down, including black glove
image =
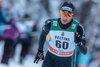
<path fill-rule="evenodd" d="M 39 60 L 41 61 L 42 59 L 44 59 L 43 46 L 46 40 L 46 36 L 49 33 L 50 27 L 51 27 L 51 21 L 47 20 L 45 22 L 45 25 L 42 28 L 42 33 L 41 33 L 40 40 L 39 40 L 39 48 L 38 48 L 38 52 L 36 54 L 34 63 L 38 63 Z"/>

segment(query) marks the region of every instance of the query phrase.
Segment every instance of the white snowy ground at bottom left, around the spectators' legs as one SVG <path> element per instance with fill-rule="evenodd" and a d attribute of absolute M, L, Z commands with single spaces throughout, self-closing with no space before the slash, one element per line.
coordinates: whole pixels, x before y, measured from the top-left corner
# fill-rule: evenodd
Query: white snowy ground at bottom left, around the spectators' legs
<path fill-rule="evenodd" d="M 3 47 L 4 42 L 0 42 L 0 61 L 2 58 L 3 53 Z M 21 46 L 18 45 L 16 48 L 16 54 L 14 59 L 10 59 L 9 66 L 3 65 L 0 63 L 0 67 L 41 67 L 42 62 L 39 62 L 38 64 L 33 63 L 34 57 L 31 55 L 28 55 L 26 59 L 24 60 L 24 63 L 21 65 L 18 63 L 19 61 L 19 54 L 20 54 Z"/>

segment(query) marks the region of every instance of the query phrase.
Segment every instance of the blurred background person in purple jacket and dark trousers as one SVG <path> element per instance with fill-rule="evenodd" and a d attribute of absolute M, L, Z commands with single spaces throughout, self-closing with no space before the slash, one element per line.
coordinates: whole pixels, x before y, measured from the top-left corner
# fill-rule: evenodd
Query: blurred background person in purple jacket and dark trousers
<path fill-rule="evenodd" d="M 2 64 L 9 65 L 9 59 L 12 58 L 13 52 L 15 51 L 15 43 L 17 41 L 17 37 L 19 35 L 19 30 L 15 26 L 15 19 L 10 20 L 10 25 L 6 26 L 2 33 L 2 38 L 4 39 L 4 51 L 1 59 Z"/>

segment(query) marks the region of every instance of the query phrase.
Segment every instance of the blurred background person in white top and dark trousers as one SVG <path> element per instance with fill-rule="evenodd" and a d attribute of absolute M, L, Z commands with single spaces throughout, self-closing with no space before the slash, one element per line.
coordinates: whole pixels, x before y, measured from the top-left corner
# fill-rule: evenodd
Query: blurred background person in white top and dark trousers
<path fill-rule="evenodd" d="M 18 22 L 16 26 L 19 28 L 19 41 L 22 45 L 19 63 L 23 64 L 24 59 L 29 54 L 29 50 L 32 46 L 31 42 L 34 35 L 33 32 L 35 32 L 35 22 L 31 20 L 29 14 L 25 14 L 23 21 Z"/>

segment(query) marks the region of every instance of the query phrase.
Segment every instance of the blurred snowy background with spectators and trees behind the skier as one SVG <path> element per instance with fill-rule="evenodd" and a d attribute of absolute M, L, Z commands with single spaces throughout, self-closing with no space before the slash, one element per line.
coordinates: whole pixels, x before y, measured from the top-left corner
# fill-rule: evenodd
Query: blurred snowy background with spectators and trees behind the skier
<path fill-rule="evenodd" d="M 60 17 L 65 1 L 74 4 L 74 18 L 85 30 L 88 53 L 78 52 L 77 67 L 100 67 L 99 0 L 0 0 L 0 67 L 41 67 L 33 60 L 42 26 Z"/>

